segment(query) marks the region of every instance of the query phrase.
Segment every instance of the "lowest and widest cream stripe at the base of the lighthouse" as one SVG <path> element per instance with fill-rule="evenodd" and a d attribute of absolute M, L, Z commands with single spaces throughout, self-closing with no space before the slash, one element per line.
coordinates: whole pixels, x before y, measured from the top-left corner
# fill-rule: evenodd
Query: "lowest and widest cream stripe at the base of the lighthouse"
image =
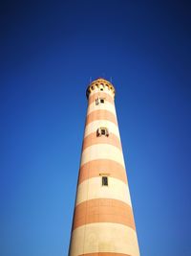
<path fill-rule="evenodd" d="M 123 224 L 109 222 L 90 223 L 74 229 L 70 256 L 98 252 L 139 256 L 136 231 Z"/>

